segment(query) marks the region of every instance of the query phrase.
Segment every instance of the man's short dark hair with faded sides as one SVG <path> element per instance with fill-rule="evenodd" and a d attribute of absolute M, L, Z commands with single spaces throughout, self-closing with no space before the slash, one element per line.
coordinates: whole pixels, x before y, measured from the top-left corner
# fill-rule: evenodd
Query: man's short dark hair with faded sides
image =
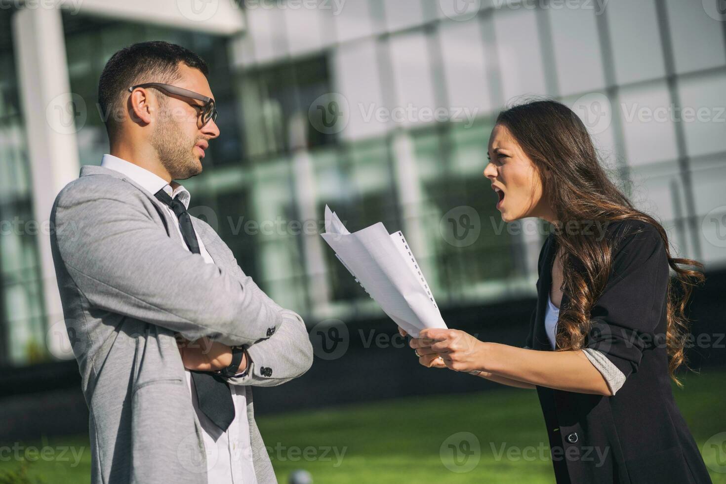
<path fill-rule="evenodd" d="M 129 87 L 145 82 L 173 84 L 181 77 L 180 62 L 200 70 L 205 77 L 209 75 L 207 63 L 201 57 L 164 41 L 139 42 L 111 56 L 98 81 L 98 104 L 109 138 L 118 128 L 118 110 L 123 109 L 121 102 Z"/>

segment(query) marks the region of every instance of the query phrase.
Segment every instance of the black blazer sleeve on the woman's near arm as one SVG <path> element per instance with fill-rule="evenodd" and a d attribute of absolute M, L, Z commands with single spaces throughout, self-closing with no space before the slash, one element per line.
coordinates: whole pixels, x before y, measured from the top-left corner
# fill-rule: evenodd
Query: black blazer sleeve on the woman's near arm
<path fill-rule="evenodd" d="M 643 350 L 656 341 L 668 290 L 668 260 L 663 239 L 649 224 L 624 225 L 629 233 L 615 249 L 613 271 L 592 308 L 587 348 L 604 356 L 623 375 L 637 372 Z M 592 360 L 591 360 L 592 361 Z"/>

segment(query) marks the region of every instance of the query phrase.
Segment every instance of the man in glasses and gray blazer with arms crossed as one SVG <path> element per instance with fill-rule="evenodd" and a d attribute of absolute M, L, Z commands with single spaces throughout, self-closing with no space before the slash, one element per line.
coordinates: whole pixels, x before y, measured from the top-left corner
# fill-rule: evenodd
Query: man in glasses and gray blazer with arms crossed
<path fill-rule="evenodd" d="M 53 206 L 92 483 L 277 482 L 250 385 L 311 366 L 300 316 L 245 276 L 172 181 L 200 173 L 219 136 L 207 75 L 166 42 L 116 52 L 99 81 L 110 155 L 83 166 Z"/>

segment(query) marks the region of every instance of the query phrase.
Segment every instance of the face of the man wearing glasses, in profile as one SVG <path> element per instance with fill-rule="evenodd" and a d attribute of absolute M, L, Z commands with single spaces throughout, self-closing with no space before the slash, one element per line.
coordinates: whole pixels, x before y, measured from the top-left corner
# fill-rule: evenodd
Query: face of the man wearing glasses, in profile
<path fill-rule="evenodd" d="M 214 99 L 207 78 L 199 70 L 180 64 L 179 73 L 181 78 L 170 84 Z M 160 109 L 151 144 L 160 162 L 171 179 L 184 180 L 198 175 L 202 172 L 208 141 L 219 136 L 219 128 L 213 120 L 200 126 L 202 101 L 166 91 L 158 91 L 158 99 Z"/>

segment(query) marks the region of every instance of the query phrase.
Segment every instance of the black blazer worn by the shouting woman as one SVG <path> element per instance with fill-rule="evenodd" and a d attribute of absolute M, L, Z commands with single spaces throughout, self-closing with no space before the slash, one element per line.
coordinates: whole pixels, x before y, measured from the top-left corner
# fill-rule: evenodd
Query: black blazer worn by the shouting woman
<path fill-rule="evenodd" d="M 587 348 L 605 354 L 626 377 L 616 395 L 537 387 L 558 483 L 711 483 L 698 446 L 673 398 L 664 341 L 669 266 L 663 240 L 648 223 L 613 222 L 613 271 L 591 316 Z M 539 254 L 537 308 L 527 346 L 552 350 L 544 329 L 553 234 Z M 563 295 L 560 307 L 568 303 Z"/>

